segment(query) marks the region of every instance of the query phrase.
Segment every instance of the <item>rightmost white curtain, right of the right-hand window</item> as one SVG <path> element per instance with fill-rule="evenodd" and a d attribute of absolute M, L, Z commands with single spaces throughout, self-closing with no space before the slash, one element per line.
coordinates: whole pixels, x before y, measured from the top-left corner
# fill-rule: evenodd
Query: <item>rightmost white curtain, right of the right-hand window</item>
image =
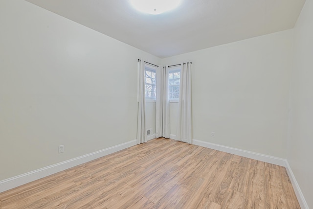
<path fill-rule="evenodd" d="M 191 62 L 181 63 L 176 140 L 192 143 Z"/>

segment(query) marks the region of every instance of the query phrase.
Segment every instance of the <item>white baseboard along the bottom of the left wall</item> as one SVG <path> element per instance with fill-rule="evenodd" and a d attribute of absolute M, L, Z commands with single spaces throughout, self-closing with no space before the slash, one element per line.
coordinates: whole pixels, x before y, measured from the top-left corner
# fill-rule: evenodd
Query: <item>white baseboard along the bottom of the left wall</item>
<path fill-rule="evenodd" d="M 15 176 L 9 179 L 5 179 L 0 181 L 0 192 L 9 190 L 11 188 L 15 188 L 17 186 L 21 186 L 27 184 L 29 182 L 44 178 L 46 176 L 52 175 L 54 173 L 66 170 L 68 168 L 74 167 L 76 165 L 80 165 L 83 163 L 87 163 L 89 161 L 95 160 L 97 158 L 101 158 L 103 156 L 112 154 L 114 152 L 126 149 L 128 147 L 134 146 L 137 144 L 137 140 L 128 141 L 122 144 L 118 144 L 97 152 L 93 152 L 87 155 L 83 155 L 68 161 L 64 161 L 61 163 L 57 163 L 54 165 L 50 165 L 38 170 L 34 170 L 28 173 L 24 173 L 19 176 Z"/>

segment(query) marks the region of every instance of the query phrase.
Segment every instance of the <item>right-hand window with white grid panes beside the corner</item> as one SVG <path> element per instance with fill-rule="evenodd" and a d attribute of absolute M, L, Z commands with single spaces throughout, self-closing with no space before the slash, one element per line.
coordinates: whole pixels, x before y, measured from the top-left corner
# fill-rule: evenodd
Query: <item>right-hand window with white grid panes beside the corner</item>
<path fill-rule="evenodd" d="M 180 66 L 169 71 L 169 98 L 179 99 Z"/>

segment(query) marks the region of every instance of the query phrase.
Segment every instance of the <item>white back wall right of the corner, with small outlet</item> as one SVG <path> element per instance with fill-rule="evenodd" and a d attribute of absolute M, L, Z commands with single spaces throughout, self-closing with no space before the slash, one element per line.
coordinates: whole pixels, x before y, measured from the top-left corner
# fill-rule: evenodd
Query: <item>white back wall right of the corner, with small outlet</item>
<path fill-rule="evenodd" d="M 292 39 L 291 29 L 162 60 L 192 61 L 193 139 L 286 158 Z"/>

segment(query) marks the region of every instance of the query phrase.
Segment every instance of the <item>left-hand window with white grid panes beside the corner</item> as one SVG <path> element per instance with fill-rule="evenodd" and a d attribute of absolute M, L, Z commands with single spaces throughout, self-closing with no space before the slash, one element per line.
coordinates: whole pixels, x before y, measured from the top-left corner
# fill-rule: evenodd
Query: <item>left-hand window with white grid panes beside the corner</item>
<path fill-rule="evenodd" d="M 156 99 L 156 70 L 145 66 L 146 98 Z"/>

